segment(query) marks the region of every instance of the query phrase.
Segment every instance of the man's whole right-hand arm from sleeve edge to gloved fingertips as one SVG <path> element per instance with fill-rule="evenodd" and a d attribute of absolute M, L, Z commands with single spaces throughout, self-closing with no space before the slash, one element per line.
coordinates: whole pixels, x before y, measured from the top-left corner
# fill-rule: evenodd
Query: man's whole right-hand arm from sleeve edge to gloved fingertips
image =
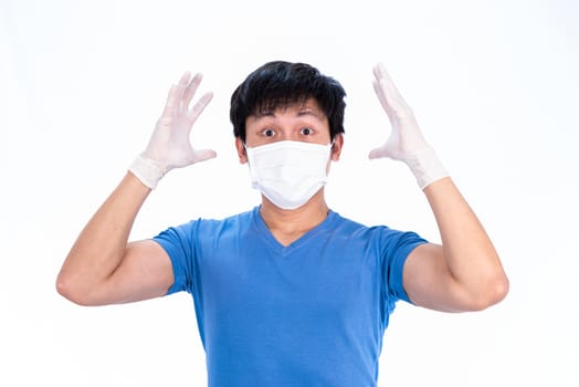
<path fill-rule="evenodd" d="M 495 248 L 466 200 L 425 142 L 410 106 L 382 64 L 375 91 L 392 132 L 369 157 L 406 163 L 432 208 L 442 244 L 425 243 L 408 257 L 403 285 L 410 301 L 444 312 L 486 308 L 506 296 L 508 280 Z"/>

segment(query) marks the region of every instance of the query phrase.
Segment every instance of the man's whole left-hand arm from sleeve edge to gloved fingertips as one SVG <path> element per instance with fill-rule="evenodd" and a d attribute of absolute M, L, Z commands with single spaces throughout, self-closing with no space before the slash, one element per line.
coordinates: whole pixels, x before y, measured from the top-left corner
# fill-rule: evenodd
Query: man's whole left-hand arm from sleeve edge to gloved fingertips
<path fill-rule="evenodd" d="M 189 106 L 201 82 L 185 73 L 169 91 L 146 150 L 85 226 L 56 280 L 64 297 L 82 305 L 105 305 L 161 296 L 173 283 L 167 252 L 151 240 L 128 242 L 137 213 L 158 181 L 171 169 L 215 157 L 196 149 L 191 127 L 212 94 Z"/>

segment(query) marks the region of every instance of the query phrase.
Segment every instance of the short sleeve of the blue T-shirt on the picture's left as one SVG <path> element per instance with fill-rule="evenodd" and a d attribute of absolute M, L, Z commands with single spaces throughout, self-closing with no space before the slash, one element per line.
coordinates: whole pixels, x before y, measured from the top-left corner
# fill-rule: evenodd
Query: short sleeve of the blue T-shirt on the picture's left
<path fill-rule="evenodd" d="M 167 295 L 182 291 L 192 292 L 193 247 L 191 231 L 193 223 L 171 227 L 152 238 L 165 249 L 171 260 L 175 280 Z"/>

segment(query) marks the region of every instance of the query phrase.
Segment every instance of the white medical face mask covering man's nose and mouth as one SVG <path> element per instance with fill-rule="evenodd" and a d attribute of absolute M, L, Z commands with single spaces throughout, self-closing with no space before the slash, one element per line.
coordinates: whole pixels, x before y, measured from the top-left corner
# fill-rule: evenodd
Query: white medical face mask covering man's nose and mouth
<path fill-rule="evenodd" d="M 326 184 L 330 149 L 302 142 L 245 147 L 251 185 L 280 208 L 302 207 Z"/>

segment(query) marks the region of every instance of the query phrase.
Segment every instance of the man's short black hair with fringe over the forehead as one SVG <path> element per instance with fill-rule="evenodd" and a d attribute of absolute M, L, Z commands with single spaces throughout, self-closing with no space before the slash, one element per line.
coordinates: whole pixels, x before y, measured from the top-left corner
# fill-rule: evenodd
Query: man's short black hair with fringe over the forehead
<path fill-rule="evenodd" d="M 230 119 L 233 135 L 245 142 L 249 116 L 285 108 L 292 104 L 316 100 L 329 123 L 334 139 L 344 133 L 346 92 L 336 80 L 306 63 L 269 62 L 252 72 L 231 95 Z"/>

